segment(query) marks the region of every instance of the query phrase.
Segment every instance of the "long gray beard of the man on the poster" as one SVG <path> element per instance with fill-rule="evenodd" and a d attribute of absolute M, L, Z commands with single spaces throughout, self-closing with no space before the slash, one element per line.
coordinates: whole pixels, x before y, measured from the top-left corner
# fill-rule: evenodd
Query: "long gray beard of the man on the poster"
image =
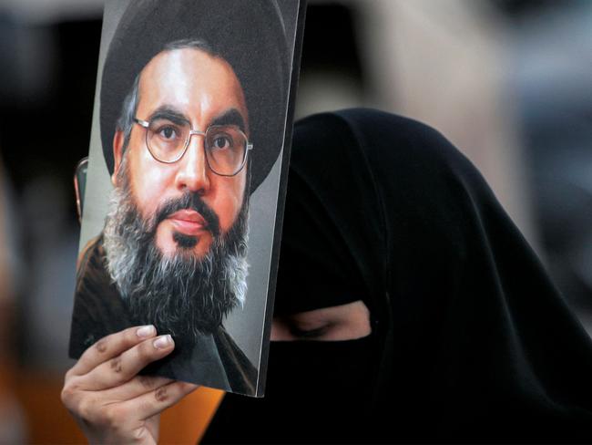
<path fill-rule="evenodd" d="M 156 216 L 142 218 L 124 165 L 121 173 L 122 185 L 112 191 L 103 232 L 107 271 L 135 323 L 155 325 L 159 334 L 170 333 L 178 342 L 194 342 L 244 303 L 248 205 L 245 201 L 228 233 L 212 234 L 204 258 L 180 245 L 179 254 L 168 257 L 156 245 Z"/>

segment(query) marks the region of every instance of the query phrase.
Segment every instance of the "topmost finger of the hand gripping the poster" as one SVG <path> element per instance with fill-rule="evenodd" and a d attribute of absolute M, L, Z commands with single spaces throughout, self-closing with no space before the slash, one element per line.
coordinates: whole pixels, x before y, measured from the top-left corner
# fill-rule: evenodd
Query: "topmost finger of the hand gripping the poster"
<path fill-rule="evenodd" d="M 156 336 L 156 328 L 152 325 L 133 326 L 119 331 L 110 336 L 105 336 L 89 347 L 77 364 L 66 374 L 71 376 L 82 376 L 105 361 L 119 356 L 122 352 L 138 345 L 138 343 Z"/>

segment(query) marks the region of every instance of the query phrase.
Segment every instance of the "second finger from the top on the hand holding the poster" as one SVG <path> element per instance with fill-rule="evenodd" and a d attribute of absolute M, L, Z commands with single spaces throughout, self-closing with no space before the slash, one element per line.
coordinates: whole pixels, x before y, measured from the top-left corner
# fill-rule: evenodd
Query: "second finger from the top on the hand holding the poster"
<path fill-rule="evenodd" d="M 149 363 L 168 356 L 175 348 L 169 335 L 145 340 L 135 347 L 109 358 L 80 378 L 82 389 L 96 391 L 120 386 L 132 378 Z"/>

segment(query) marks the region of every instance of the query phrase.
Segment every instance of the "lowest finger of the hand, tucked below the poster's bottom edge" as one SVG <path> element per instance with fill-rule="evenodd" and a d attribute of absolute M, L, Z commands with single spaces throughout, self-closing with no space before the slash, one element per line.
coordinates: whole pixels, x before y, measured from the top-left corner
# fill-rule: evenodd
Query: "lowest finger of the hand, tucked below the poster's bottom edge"
<path fill-rule="evenodd" d="M 137 419 L 148 419 L 173 406 L 198 385 L 175 381 L 121 404 L 123 412 L 133 412 Z"/>

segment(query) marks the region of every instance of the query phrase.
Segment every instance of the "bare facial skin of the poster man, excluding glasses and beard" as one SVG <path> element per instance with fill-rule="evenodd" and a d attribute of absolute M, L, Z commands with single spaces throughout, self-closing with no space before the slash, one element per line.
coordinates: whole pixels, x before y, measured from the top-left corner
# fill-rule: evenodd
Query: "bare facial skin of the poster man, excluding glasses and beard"
<path fill-rule="evenodd" d="M 192 129 L 199 131 L 206 131 L 210 125 L 232 123 L 247 132 L 247 107 L 232 67 L 196 48 L 161 52 L 141 72 L 136 117 L 150 121 L 168 115 L 185 119 Z M 190 137 L 180 160 L 161 162 L 148 150 L 146 131 L 134 125 L 127 148 L 129 187 L 138 211 L 142 218 L 149 219 L 165 202 L 179 199 L 187 192 L 199 195 L 213 212 L 213 221 L 195 210 L 173 212 L 158 223 L 155 243 L 165 256 L 190 247 L 191 254 L 202 258 L 209 253 L 213 236 L 228 233 L 237 220 L 245 196 L 247 169 L 234 176 L 211 171 L 205 137 L 201 134 Z M 112 177 L 116 186 L 124 156 L 123 139 L 121 131 L 117 131 Z M 191 239 L 195 240 L 194 245 Z M 189 240 L 189 245 L 181 241 L 179 246 L 179 240 Z"/>

